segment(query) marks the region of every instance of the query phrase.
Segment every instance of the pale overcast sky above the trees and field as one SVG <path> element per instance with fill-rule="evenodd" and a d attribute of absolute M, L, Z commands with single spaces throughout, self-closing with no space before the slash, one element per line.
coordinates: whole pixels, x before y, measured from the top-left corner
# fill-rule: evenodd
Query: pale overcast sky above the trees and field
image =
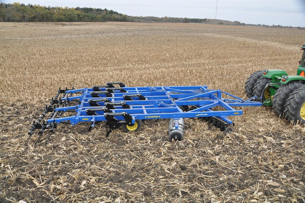
<path fill-rule="evenodd" d="M 91 7 L 130 16 L 211 18 L 252 24 L 305 27 L 305 0 L 0 0 L 25 5 Z M 216 16 L 217 5 L 217 16 Z"/>

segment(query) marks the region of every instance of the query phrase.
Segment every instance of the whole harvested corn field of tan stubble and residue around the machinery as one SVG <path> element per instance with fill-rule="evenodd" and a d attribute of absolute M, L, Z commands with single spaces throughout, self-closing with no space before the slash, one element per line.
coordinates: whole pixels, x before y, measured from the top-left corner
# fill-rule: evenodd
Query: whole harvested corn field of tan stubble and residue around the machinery
<path fill-rule="evenodd" d="M 267 107 L 240 107 L 235 132 L 185 119 L 139 132 L 60 124 L 24 146 L 58 87 L 207 85 L 247 99 L 263 69 L 295 75 L 297 29 L 170 23 L 0 23 L 1 202 L 305 202 L 305 128 Z M 33 136 L 35 137 L 35 135 Z"/>

